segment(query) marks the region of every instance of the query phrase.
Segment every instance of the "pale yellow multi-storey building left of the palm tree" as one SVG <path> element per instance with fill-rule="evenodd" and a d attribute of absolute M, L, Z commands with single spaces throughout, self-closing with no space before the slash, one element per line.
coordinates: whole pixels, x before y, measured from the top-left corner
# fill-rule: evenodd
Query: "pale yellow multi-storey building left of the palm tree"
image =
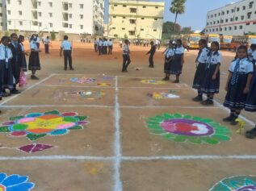
<path fill-rule="evenodd" d="M 110 38 L 161 39 L 165 2 L 109 0 Z"/>

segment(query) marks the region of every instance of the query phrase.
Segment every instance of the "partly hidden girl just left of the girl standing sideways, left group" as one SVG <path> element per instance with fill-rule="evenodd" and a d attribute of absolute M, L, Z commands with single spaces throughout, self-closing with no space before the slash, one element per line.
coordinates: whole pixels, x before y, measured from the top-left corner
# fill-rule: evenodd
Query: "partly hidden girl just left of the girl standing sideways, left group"
<path fill-rule="evenodd" d="M 23 42 L 24 42 L 24 36 L 19 35 L 18 39 L 18 60 L 19 60 L 19 67 L 23 70 L 23 72 L 27 72 L 27 61 L 26 61 L 26 56 L 29 54 L 25 52 Z"/>

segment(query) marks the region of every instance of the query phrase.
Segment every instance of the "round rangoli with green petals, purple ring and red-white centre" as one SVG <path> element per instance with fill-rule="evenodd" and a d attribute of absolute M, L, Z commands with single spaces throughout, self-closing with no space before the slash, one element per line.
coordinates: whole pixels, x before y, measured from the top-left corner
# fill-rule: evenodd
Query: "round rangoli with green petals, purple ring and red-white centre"
<path fill-rule="evenodd" d="M 174 142 L 217 144 L 229 140 L 230 131 L 210 118 L 182 114 L 162 114 L 148 118 L 147 127 L 153 134 Z"/>

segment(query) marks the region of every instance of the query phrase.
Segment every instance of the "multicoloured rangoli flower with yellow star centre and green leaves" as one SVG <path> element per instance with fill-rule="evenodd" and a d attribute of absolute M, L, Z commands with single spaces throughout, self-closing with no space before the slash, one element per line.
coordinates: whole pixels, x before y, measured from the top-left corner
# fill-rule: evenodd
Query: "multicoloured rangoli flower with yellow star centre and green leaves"
<path fill-rule="evenodd" d="M 0 132 L 12 137 L 27 136 L 31 141 L 46 135 L 57 136 L 69 133 L 69 130 L 83 129 L 87 116 L 78 116 L 75 112 L 60 113 L 53 110 L 45 113 L 31 113 L 25 116 L 10 117 L 9 122 L 3 122 Z"/>

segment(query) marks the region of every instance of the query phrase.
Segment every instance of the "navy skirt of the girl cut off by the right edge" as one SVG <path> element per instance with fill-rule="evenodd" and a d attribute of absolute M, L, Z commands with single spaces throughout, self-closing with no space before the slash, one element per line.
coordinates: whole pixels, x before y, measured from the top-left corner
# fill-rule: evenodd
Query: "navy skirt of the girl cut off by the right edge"
<path fill-rule="evenodd" d="M 246 100 L 245 110 L 250 112 L 256 111 L 256 69 L 254 67 L 254 77 L 250 86 L 250 93 Z"/>

